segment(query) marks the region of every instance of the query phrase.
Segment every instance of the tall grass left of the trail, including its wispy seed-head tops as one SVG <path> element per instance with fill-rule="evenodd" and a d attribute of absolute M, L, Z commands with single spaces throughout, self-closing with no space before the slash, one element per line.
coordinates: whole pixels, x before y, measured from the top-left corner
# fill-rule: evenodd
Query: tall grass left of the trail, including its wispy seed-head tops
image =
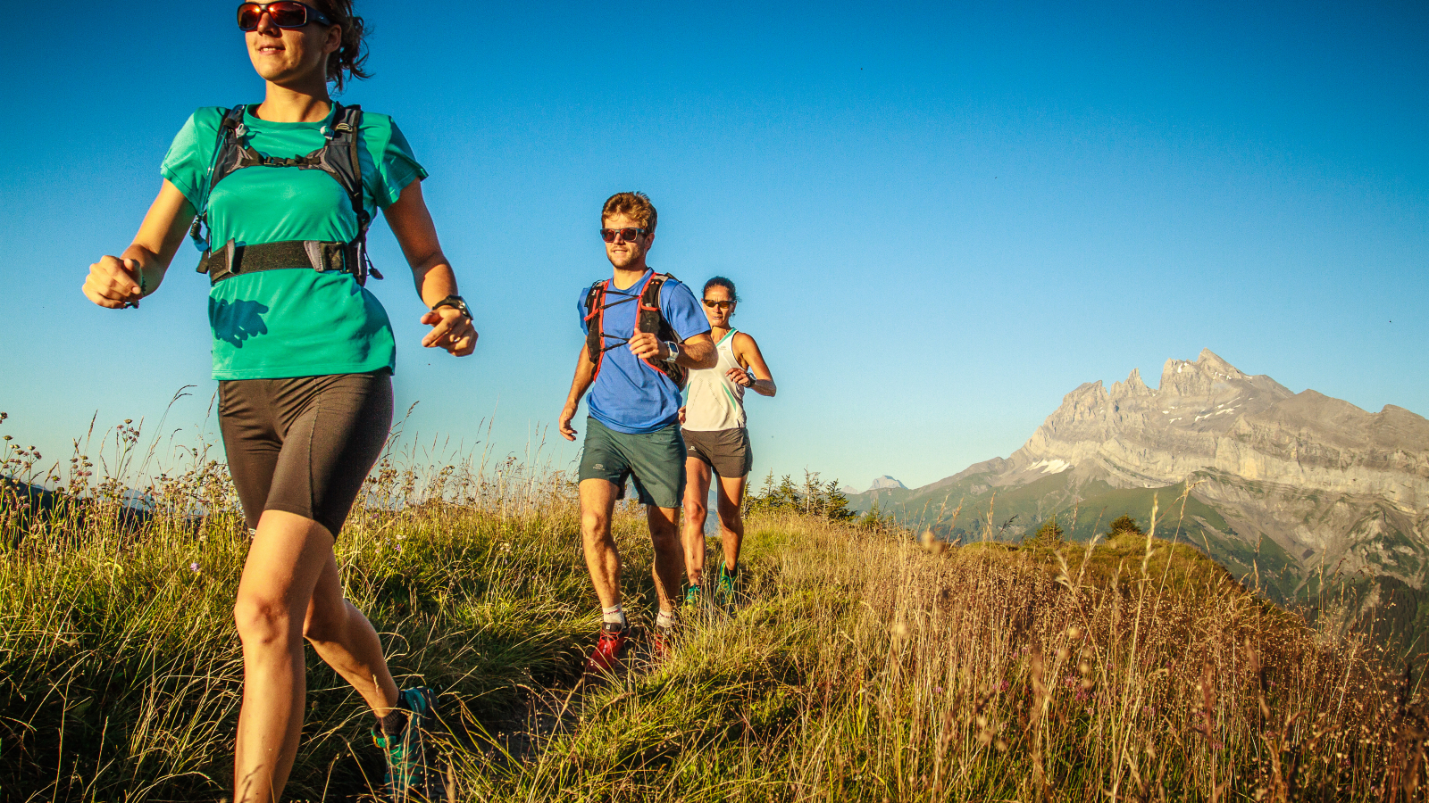
<path fill-rule="evenodd" d="M 77 442 L 67 469 L 6 447 L 0 800 L 219 800 L 240 702 L 231 607 L 249 547 L 224 466 L 201 446 L 160 460 L 166 446 L 133 422 Z M 579 676 L 597 620 L 574 493 L 517 457 L 433 456 L 453 457 L 439 443 L 386 454 L 334 550 L 399 683 L 442 690 L 464 714 L 457 729 L 497 730 L 524 716 L 529 689 Z M 636 524 L 623 506 L 617 536 L 639 559 Z M 639 574 L 627 593 L 647 593 Z M 382 757 L 370 714 L 316 659 L 309 689 L 289 797 L 372 799 Z"/>

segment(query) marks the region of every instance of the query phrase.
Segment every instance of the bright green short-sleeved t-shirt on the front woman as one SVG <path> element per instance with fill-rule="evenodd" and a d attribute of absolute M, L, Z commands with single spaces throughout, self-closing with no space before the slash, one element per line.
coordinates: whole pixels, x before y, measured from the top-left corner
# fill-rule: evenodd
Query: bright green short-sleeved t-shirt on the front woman
<path fill-rule="evenodd" d="M 336 104 L 334 104 L 336 110 Z M 223 109 L 189 117 L 160 173 L 196 209 L 207 189 Z M 322 123 L 273 123 L 246 113 L 247 143 L 264 156 L 304 156 L 323 146 Z M 427 177 L 392 117 L 364 111 L 360 147 L 367 213 L 392 206 L 413 180 Z M 244 167 L 209 197 L 213 247 L 357 236 L 352 201 L 332 176 L 297 167 Z M 280 379 L 392 369 L 396 343 L 387 311 L 347 273 L 307 269 L 239 274 L 209 291 L 213 379 Z"/>

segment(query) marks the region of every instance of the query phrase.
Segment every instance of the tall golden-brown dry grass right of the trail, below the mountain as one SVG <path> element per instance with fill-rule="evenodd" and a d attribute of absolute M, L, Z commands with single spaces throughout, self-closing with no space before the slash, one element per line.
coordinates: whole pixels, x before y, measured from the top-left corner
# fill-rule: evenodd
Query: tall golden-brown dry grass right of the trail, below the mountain
<path fill-rule="evenodd" d="M 1418 800 L 1418 679 L 1186 546 L 752 523 L 753 599 L 472 800 Z"/>

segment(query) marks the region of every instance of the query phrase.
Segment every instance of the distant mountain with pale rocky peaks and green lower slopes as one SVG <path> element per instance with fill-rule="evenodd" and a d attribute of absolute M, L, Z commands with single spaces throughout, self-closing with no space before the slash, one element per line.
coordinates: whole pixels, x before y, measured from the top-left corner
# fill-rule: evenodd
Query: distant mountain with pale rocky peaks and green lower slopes
<path fill-rule="evenodd" d="M 877 502 L 905 519 L 919 512 L 965 534 L 1000 527 L 999 536 L 1016 537 L 1053 514 L 1060 523 L 1102 503 L 1107 516 L 1116 504 L 1145 504 L 1123 512 L 1146 522 L 1147 492 L 1179 496 L 1182 483 L 1196 504 L 1179 524 L 1238 574 L 1265 580 L 1269 572 L 1272 596 L 1316 593 L 1320 569 L 1425 587 L 1429 420 L 1392 404 L 1369 413 L 1315 390 L 1292 393 L 1210 350 L 1167 360 L 1156 390 L 1136 370 L 1110 389 L 1082 384 L 1006 459 L 910 492 L 870 489 L 852 502 Z M 1157 494 L 1162 513 L 1170 496 Z M 959 502 L 963 523 L 950 523 L 946 513 Z M 985 522 L 962 514 L 985 506 Z"/>

